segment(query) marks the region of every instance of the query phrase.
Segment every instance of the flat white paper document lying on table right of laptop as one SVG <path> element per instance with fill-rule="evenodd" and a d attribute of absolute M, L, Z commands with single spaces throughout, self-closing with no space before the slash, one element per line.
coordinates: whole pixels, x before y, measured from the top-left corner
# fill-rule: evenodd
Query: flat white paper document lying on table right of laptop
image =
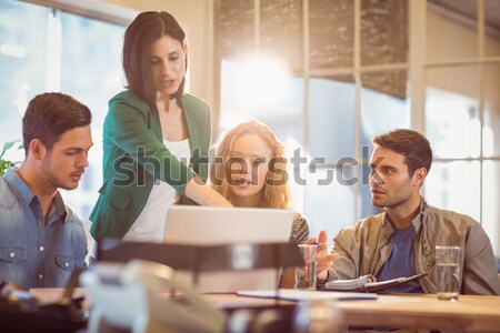
<path fill-rule="evenodd" d="M 239 296 L 261 297 L 261 299 L 280 299 L 289 301 L 313 301 L 313 300 L 334 300 L 334 301 L 371 301 L 377 300 L 374 293 L 353 293 L 353 292 L 326 292 L 326 291 L 308 291 L 308 290 L 256 290 L 239 291 Z"/>

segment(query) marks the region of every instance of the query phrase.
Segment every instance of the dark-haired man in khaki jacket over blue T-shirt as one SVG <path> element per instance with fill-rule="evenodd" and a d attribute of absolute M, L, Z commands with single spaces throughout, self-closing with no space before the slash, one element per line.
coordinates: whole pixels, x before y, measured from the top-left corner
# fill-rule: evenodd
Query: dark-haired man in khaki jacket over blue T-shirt
<path fill-rule="evenodd" d="M 420 195 L 432 163 L 429 141 L 411 130 L 394 130 L 372 139 L 371 202 L 383 212 L 346 228 L 334 239 L 339 254 L 328 280 L 372 274 L 378 281 L 428 273 L 391 292 L 436 293 L 437 245 L 461 248 L 463 294 L 500 293 L 490 240 L 467 215 L 429 205 Z"/>

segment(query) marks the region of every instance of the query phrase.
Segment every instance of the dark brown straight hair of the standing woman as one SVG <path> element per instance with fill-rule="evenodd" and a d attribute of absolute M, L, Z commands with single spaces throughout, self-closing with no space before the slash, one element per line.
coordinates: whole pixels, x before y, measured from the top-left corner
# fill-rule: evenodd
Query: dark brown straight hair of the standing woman
<path fill-rule="evenodd" d="M 146 101 L 151 110 L 157 112 L 156 89 L 151 78 L 149 52 L 151 44 L 168 34 L 186 46 L 186 33 L 179 22 L 164 11 L 141 12 L 127 28 L 123 39 L 123 71 L 127 88 L 137 97 Z M 188 65 L 187 58 L 186 67 Z M 187 69 L 187 68 L 186 68 Z M 186 71 L 184 69 L 184 71 Z M 180 99 L 184 91 L 186 78 L 173 95 Z"/>

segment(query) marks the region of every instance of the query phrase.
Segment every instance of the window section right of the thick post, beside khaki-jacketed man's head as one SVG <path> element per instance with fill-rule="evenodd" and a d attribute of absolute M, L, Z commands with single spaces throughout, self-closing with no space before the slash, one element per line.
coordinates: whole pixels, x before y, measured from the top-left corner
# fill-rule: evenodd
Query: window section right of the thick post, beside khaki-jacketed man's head
<path fill-rule="evenodd" d="M 429 0 L 430 202 L 481 221 L 500 254 L 500 1 Z"/>

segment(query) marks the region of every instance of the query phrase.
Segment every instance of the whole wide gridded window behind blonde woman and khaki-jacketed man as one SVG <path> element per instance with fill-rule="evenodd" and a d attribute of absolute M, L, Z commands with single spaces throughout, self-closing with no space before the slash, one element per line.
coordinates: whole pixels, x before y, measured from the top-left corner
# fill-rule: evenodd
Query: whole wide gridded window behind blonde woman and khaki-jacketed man
<path fill-rule="evenodd" d="M 500 250 L 500 1 L 216 3 L 221 128 L 258 119 L 289 144 L 289 158 L 300 149 L 307 163 L 291 172 L 306 182 L 291 176 L 290 185 L 312 233 L 326 229 L 331 241 L 377 212 L 370 139 L 412 128 L 434 150 L 428 202 L 480 221 Z M 252 57 L 272 57 L 288 81 L 264 67 L 249 80 L 239 68 Z M 249 84 L 247 102 L 234 102 L 239 82 Z"/>

